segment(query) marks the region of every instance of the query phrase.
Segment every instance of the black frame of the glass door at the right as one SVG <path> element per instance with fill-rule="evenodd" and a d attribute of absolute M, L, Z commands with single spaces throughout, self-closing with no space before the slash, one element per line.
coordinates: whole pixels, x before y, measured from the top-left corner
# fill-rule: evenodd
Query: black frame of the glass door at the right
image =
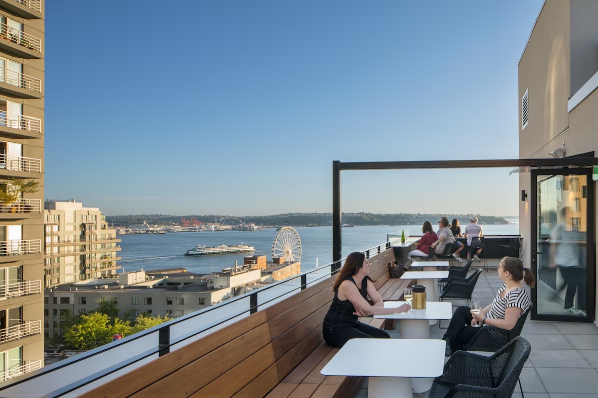
<path fill-rule="evenodd" d="M 587 206 L 586 215 L 587 217 L 587 242 L 586 242 L 586 254 L 587 260 L 585 277 L 586 277 L 586 316 L 570 316 L 567 314 L 538 314 L 538 175 L 585 175 L 587 184 Z M 594 311 L 596 310 L 596 257 L 595 248 L 596 242 L 594 242 L 596 227 L 596 218 L 594 209 L 596 208 L 596 201 L 594 198 L 594 181 L 592 180 L 592 169 L 591 168 L 563 168 L 563 169 L 532 169 L 530 170 L 530 259 L 532 261 L 531 267 L 533 274 L 536 277 L 536 286 L 532 288 L 532 308 L 531 319 L 532 320 L 552 320 L 559 322 L 594 322 Z"/>

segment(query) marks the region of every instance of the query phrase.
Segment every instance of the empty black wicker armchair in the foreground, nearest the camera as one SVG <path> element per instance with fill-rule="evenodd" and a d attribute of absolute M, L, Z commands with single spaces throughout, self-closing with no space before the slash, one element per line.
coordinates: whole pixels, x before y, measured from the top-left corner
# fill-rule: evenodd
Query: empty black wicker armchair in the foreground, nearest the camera
<path fill-rule="evenodd" d="M 531 350 L 527 340 L 516 337 L 490 357 L 457 351 L 428 398 L 510 398 Z"/>

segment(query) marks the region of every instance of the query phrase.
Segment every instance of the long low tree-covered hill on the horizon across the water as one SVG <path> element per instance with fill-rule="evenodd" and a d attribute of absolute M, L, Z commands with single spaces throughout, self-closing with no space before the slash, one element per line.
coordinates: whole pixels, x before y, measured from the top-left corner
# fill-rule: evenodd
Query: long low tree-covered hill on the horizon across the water
<path fill-rule="evenodd" d="M 469 224 L 469 214 L 444 214 L 449 217 L 449 221 L 457 218 L 462 225 Z M 493 215 L 476 214 L 479 223 L 484 224 L 508 224 L 502 217 Z M 430 221 L 432 226 L 438 223 L 439 217 L 443 214 L 374 214 L 374 213 L 343 213 L 343 224 L 353 224 L 356 226 L 376 226 L 376 225 L 417 225 L 424 221 Z M 331 213 L 286 213 L 276 215 L 185 215 L 190 220 L 191 217 L 197 218 L 203 223 L 219 223 L 222 225 L 234 225 L 243 223 L 255 223 L 263 226 L 329 226 L 332 225 Z M 141 224 L 144 221 L 150 225 L 172 226 L 181 224 L 181 216 L 164 214 L 138 214 L 138 215 L 111 215 L 106 216 L 109 225 L 127 226 L 130 224 Z"/>

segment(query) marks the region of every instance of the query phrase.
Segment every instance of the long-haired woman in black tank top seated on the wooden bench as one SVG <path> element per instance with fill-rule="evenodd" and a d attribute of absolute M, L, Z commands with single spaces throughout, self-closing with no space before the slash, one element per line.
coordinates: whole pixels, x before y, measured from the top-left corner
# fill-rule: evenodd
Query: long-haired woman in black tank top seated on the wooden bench
<path fill-rule="evenodd" d="M 408 304 L 398 308 L 384 308 L 382 298 L 368 276 L 370 263 L 365 254 L 355 252 L 347 256 L 343 269 L 332 286 L 334 298 L 324 317 L 322 334 L 332 347 L 342 347 L 352 338 L 390 338 L 388 333 L 358 321 L 360 315 L 401 313 Z M 368 303 L 368 297 L 374 303 Z M 357 311 L 356 311 L 357 307 Z"/>

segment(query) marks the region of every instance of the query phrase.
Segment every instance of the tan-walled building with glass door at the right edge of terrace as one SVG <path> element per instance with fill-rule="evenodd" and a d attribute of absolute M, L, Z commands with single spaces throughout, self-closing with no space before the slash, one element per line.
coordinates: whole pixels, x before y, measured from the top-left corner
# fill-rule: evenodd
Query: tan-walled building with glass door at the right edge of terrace
<path fill-rule="evenodd" d="M 596 158 L 598 1 L 544 2 L 518 63 L 518 101 L 521 159 Z M 532 317 L 596 322 L 598 175 L 521 171 L 521 252 L 538 277 Z"/>

